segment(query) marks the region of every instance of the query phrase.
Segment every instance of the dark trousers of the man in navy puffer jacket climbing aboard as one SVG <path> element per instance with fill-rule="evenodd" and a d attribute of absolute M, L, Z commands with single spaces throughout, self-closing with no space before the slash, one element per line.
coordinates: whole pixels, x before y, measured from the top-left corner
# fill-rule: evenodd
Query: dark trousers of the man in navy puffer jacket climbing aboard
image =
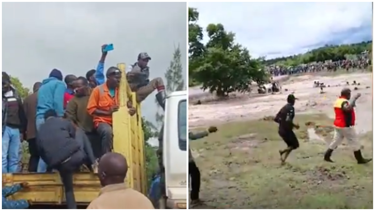
<path fill-rule="evenodd" d="M 56 167 L 64 185 L 66 206 L 68 209 L 77 209 L 73 190 L 73 174 L 81 167 L 83 162 L 84 152 L 80 150 L 72 154 L 69 160 Z"/>

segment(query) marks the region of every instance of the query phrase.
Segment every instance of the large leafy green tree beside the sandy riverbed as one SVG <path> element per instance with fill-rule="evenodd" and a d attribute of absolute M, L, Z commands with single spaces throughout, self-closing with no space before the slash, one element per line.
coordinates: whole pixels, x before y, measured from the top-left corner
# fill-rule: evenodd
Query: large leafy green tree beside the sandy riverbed
<path fill-rule="evenodd" d="M 198 17 L 198 11 L 189 8 L 189 85 L 198 83 L 204 90 L 227 96 L 244 92 L 253 81 L 265 79 L 263 58 L 252 58 L 245 47 L 234 41 L 235 34 L 227 32 L 222 24 L 207 26 L 209 40 L 203 45 Z"/>

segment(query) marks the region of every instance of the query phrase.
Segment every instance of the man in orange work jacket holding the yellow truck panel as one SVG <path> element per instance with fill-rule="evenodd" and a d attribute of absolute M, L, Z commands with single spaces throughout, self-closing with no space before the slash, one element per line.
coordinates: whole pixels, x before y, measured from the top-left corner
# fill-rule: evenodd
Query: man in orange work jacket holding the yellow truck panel
<path fill-rule="evenodd" d="M 110 67 L 106 73 L 107 81 L 95 87 L 87 104 L 87 111 L 93 116 L 94 127 L 101 137 L 102 155 L 111 152 L 113 148 L 112 114 L 118 111 L 118 87 L 121 80 L 121 71 L 117 67 Z M 127 103 L 129 114 L 134 115 L 136 110 L 131 102 Z"/>

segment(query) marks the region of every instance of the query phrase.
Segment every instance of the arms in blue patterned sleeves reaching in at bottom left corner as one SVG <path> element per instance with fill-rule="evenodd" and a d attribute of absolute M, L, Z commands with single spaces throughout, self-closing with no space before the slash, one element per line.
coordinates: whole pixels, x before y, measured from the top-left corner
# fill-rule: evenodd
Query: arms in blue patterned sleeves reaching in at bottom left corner
<path fill-rule="evenodd" d="M 27 209 L 30 202 L 27 200 L 7 200 L 8 196 L 12 196 L 23 188 L 27 188 L 27 183 L 15 184 L 12 186 L 3 186 L 1 189 L 1 209 Z"/>

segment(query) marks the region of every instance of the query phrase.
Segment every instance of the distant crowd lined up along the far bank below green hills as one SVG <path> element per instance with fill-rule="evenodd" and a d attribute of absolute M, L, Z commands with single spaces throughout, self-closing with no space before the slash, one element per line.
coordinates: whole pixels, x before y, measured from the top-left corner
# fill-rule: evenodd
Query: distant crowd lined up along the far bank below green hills
<path fill-rule="evenodd" d="M 302 74 L 307 72 L 321 72 L 321 71 L 336 71 L 337 69 L 366 69 L 371 65 L 371 61 L 366 57 L 360 57 L 356 60 L 339 60 L 339 61 L 326 61 L 326 62 L 317 62 L 302 64 L 298 66 L 268 66 L 267 71 L 273 76 L 279 75 L 295 75 Z"/>

